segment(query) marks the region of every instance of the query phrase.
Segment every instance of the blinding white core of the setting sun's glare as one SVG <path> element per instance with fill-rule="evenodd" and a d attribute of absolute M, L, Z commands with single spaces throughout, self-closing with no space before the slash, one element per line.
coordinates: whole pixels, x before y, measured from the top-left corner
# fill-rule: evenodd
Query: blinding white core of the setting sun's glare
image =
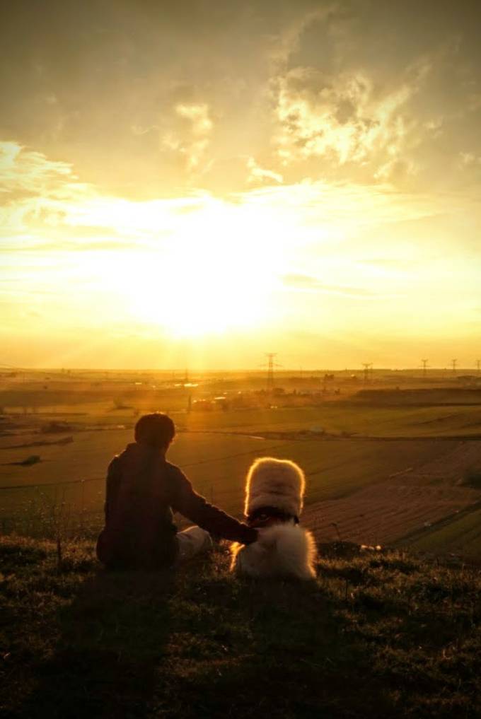
<path fill-rule="evenodd" d="M 159 249 L 124 258 L 117 289 L 138 323 L 171 336 L 255 329 L 274 309 L 270 230 L 262 214 L 253 222 L 245 212 L 219 206 L 194 213 Z"/>

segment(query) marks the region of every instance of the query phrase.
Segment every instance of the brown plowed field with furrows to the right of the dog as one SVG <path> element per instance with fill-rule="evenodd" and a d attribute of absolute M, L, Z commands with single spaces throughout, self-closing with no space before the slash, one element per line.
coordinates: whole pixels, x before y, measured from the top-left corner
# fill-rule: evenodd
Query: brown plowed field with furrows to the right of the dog
<path fill-rule="evenodd" d="M 319 541 L 342 539 L 387 544 L 415 533 L 416 546 L 434 549 L 437 537 L 443 550 L 452 548 L 451 536 L 456 549 L 462 548 L 462 526 L 469 524 L 470 533 L 465 537 L 469 551 L 481 556 L 481 546 L 475 552 L 475 543 L 471 541 L 473 532 L 481 534 L 474 518 L 477 516 L 479 522 L 479 512 L 473 511 L 473 518 L 468 519 L 469 514 L 464 517 L 464 510 L 469 507 L 477 510 L 481 491 L 463 483 L 469 468 L 481 466 L 481 442 L 459 442 L 439 454 L 348 497 L 308 505 L 303 522 Z M 458 513 L 462 514 L 459 521 Z M 446 519 L 446 526 L 436 531 L 433 525 L 442 519 Z M 448 530 L 449 519 L 457 531 Z M 424 533 L 426 541 L 422 539 Z"/>

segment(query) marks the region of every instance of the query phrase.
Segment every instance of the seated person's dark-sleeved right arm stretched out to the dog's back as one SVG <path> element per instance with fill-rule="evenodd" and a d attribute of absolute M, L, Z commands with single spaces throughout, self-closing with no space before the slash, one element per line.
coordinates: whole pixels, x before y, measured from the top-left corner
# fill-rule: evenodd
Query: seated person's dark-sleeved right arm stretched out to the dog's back
<path fill-rule="evenodd" d="M 197 494 L 193 490 L 191 482 L 177 467 L 175 475 L 172 477 L 171 504 L 173 510 L 180 512 L 198 526 L 223 539 L 238 541 L 241 544 L 252 544 L 257 539 L 255 529 L 237 521 Z"/>

